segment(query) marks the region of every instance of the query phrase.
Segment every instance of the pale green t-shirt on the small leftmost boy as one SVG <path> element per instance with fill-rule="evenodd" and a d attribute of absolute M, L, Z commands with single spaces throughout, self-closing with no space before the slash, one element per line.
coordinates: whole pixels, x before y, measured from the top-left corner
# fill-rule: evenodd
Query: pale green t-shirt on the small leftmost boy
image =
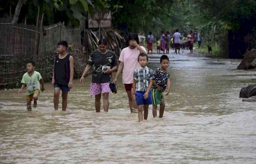
<path fill-rule="evenodd" d="M 40 82 L 42 78 L 41 74 L 37 71 L 34 71 L 32 76 L 29 76 L 28 73 L 25 73 L 22 77 L 22 83 L 27 86 L 28 95 L 34 93 L 34 91 L 40 91 Z"/>

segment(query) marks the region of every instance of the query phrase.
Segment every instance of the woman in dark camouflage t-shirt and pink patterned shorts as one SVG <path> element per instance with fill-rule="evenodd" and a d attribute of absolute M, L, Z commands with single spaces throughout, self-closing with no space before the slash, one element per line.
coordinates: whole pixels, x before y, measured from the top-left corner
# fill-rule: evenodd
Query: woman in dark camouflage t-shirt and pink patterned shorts
<path fill-rule="evenodd" d="M 85 67 L 80 83 L 82 84 L 84 76 L 90 70 L 91 66 L 95 66 L 93 71 L 93 78 L 90 87 L 90 95 L 95 95 L 95 109 L 100 112 L 100 99 L 101 94 L 103 97 L 104 111 L 109 111 L 109 83 L 112 81 L 112 72 L 117 70 L 116 55 L 113 51 L 106 48 L 106 39 L 99 40 L 99 50 L 91 53 L 88 65 Z M 103 67 L 103 68 L 102 68 Z"/>

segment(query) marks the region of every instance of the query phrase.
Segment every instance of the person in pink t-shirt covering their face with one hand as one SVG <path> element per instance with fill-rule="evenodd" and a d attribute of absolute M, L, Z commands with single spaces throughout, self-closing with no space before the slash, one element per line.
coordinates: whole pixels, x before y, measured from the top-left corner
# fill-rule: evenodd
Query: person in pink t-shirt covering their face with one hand
<path fill-rule="evenodd" d="M 138 62 L 138 56 L 140 53 L 147 54 L 146 49 L 143 46 L 139 45 L 139 37 L 136 33 L 130 33 L 128 37 L 129 46 L 124 48 L 119 57 L 119 66 L 117 69 L 117 73 L 114 79 L 116 83 L 118 76 L 123 71 L 123 84 L 125 85 L 125 90 L 127 92 L 127 96 L 129 99 L 129 107 L 131 113 L 138 112 L 138 107 L 136 101 L 133 101 L 131 90 L 132 90 L 132 83 L 133 83 L 133 72 L 137 68 L 140 67 Z"/>

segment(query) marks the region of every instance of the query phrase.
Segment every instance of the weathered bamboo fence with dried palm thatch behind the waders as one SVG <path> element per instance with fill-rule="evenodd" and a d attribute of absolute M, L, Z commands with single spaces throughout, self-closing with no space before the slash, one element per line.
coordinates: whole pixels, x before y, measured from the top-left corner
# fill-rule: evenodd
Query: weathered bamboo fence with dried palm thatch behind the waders
<path fill-rule="evenodd" d="M 25 24 L 12 24 L 0 19 L 0 89 L 19 85 L 26 72 L 26 61 L 36 62 L 36 71 L 45 81 L 51 80 L 54 51 L 57 43 L 66 40 L 69 53 L 74 57 L 75 75 L 81 76 L 90 53 L 98 48 L 97 31 L 84 28 L 66 28 L 62 23 L 37 28 Z M 107 38 L 108 48 L 119 56 L 125 46 L 124 39 L 111 29 L 101 30 Z"/>

